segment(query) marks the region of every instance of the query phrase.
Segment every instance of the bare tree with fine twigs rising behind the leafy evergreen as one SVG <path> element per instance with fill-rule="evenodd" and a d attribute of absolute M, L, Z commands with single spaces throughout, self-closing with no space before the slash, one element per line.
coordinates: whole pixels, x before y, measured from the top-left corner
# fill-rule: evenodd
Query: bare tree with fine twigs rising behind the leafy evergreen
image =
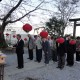
<path fill-rule="evenodd" d="M 80 7 L 78 5 L 79 0 L 54 0 L 52 4 L 53 6 L 52 5 L 51 6 L 55 10 L 55 11 L 53 10 L 54 13 L 52 15 L 52 18 L 56 17 L 64 21 L 64 25 L 61 26 L 62 27 L 61 32 L 62 32 L 62 35 L 64 35 L 64 30 L 69 23 L 69 19 L 78 13 L 77 8 Z"/>

